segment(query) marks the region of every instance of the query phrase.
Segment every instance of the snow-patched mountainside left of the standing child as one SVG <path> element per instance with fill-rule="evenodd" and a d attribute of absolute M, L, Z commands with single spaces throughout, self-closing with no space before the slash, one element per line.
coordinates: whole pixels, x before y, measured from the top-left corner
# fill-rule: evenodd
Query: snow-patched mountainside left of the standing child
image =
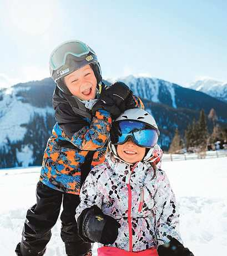
<path fill-rule="evenodd" d="M 54 124 L 50 97 L 54 85 L 48 81 L 19 83 L 0 90 L 1 167 L 40 164 Z"/>

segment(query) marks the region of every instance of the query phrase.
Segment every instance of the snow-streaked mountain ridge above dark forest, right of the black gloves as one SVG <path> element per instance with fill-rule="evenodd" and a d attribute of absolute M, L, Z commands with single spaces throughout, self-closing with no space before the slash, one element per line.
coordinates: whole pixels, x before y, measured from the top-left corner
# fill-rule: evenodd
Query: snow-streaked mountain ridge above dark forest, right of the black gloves
<path fill-rule="evenodd" d="M 157 104 L 164 104 L 173 109 L 190 109 L 200 111 L 204 109 L 209 114 L 213 107 L 219 113 L 219 121 L 227 120 L 227 105 L 203 92 L 185 88 L 158 78 L 127 76 L 118 78 L 125 82 L 135 93 L 144 100 Z"/>

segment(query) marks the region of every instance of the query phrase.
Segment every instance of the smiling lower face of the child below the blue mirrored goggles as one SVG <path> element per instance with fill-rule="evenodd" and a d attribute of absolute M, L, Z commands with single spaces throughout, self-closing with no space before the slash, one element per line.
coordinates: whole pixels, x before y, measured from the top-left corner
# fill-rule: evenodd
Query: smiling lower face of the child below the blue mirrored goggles
<path fill-rule="evenodd" d="M 137 146 L 131 139 L 128 139 L 124 144 L 117 145 L 119 157 L 130 164 L 142 161 L 145 151 L 146 147 Z"/>

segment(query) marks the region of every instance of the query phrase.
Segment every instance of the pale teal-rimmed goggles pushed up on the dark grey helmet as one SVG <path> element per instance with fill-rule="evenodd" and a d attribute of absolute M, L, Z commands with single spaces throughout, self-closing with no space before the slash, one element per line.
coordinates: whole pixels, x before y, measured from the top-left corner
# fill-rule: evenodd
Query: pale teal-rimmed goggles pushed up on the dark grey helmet
<path fill-rule="evenodd" d="M 95 54 L 95 52 L 83 42 L 73 41 L 64 43 L 62 46 L 59 46 L 56 50 L 53 51 L 50 58 L 50 65 L 52 66 L 53 70 L 55 70 L 64 65 L 68 54 L 71 54 L 75 57 L 81 57 L 88 54 L 89 52 Z"/>

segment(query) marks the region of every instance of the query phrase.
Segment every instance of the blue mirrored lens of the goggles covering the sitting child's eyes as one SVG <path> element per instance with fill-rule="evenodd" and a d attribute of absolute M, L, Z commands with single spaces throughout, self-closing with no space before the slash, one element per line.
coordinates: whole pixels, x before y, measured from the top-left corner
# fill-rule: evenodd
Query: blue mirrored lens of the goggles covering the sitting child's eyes
<path fill-rule="evenodd" d="M 122 121 L 118 124 L 118 137 L 115 144 L 123 144 L 131 137 L 135 144 L 144 147 L 153 147 L 158 141 L 158 132 L 148 129 L 142 122 Z"/>

